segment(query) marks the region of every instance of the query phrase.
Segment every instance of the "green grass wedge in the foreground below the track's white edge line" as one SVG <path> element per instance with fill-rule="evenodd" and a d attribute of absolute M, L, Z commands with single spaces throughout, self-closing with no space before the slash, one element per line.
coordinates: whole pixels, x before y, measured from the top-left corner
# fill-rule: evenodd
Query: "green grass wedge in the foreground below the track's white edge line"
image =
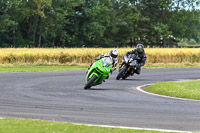
<path fill-rule="evenodd" d="M 0 133 L 162 133 L 162 132 L 75 125 L 70 123 L 30 120 L 30 119 L 7 118 L 7 119 L 0 119 Z"/>

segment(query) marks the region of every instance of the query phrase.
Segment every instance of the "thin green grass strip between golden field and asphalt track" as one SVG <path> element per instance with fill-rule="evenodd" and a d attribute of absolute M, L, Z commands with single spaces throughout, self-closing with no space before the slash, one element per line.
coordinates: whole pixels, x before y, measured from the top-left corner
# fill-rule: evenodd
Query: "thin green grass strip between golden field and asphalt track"
<path fill-rule="evenodd" d="M 33 71 L 68 71 L 68 70 L 87 70 L 89 66 L 65 66 L 65 65 L 16 65 L 0 66 L 0 72 L 33 72 Z M 200 65 L 148 65 L 143 69 L 154 68 L 192 68 Z M 117 67 L 118 68 L 118 67 Z"/>

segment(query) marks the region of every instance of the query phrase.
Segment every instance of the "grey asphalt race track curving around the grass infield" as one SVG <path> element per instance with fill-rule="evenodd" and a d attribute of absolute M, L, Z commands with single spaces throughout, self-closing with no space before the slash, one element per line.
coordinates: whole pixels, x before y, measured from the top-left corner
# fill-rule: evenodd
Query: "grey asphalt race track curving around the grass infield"
<path fill-rule="evenodd" d="M 200 68 L 143 69 L 84 90 L 86 71 L 0 73 L 0 117 L 200 131 L 200 101 L 142 93 L 137 86 L 200 79 Z"/>

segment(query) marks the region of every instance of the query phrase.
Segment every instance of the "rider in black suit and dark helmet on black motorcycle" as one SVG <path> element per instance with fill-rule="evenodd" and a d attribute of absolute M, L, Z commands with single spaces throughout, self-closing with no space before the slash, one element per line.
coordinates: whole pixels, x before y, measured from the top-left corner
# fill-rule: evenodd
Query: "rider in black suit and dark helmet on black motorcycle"
<path fill-rule="evenodd" d="M 144 45 L 143 44 L 137 44 L 136 49 L 133 49 L 132 51 L 126 52 L 125 55 L 128 57 L 130 54 L 136 55 L 138 64 L 136 66 L 135 73 L 139 75 L 140 72 L 141 72 L 141 67 L 144 66 L 146 58 L 147 58 L 146 53 L 144 52 Z M 122 67 L 123 63 L 124 63 L 124 60 L 120 64 L 119 68 Z"/>

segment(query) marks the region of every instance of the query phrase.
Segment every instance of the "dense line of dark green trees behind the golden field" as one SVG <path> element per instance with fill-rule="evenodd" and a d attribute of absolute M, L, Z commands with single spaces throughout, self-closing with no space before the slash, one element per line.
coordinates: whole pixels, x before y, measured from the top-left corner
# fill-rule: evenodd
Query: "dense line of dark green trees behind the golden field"
<path fill-rule="evenodd" d="M 199 0 L 0 0 L 0 47 L 200 43 Z"/>

